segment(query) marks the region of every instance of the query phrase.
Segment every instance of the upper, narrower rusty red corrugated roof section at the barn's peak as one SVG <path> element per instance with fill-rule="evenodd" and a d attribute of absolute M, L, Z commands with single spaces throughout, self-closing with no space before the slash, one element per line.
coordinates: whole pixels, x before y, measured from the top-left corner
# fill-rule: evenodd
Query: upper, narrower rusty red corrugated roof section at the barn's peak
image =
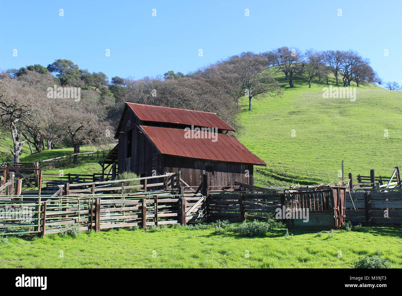
<path fill-rule="evenodd" d="M 160 107 L 138 103 L 125 102 L 142 121 L 168 122 L 177 124 L 193 124 L 195 126 L 234 130 L 216 113 L 187 109 Z"/>

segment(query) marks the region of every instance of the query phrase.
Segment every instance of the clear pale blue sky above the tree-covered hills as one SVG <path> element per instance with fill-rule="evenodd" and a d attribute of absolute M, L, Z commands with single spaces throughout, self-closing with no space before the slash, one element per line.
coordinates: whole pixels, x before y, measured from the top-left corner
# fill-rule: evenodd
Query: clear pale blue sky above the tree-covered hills
<path fill-rule="evenodd" d="M 244 51 L 289 46 L 352 49 L 369 58 L 384 81 L 402 83 L 401 3 L 0 0 L 0 68 L 47 66 L 63 58 L 109 79 L 139 79 L 168 70 L 187 73 Z"/>

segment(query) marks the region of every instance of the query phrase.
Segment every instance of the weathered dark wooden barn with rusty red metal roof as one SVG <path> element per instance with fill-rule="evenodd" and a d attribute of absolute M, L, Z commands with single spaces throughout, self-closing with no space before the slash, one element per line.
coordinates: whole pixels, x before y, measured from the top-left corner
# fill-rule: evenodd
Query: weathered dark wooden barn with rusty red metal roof
<path fill-rule="evenodd" d="M 208 173 L 210 186 L 253 184 L 253 166 L 266 166 L 236 137 L 234 129 L 212 112 L 125 103 L 109 155 L 117 172 L 140 176 L 181 171 L 189 186 Z"/>

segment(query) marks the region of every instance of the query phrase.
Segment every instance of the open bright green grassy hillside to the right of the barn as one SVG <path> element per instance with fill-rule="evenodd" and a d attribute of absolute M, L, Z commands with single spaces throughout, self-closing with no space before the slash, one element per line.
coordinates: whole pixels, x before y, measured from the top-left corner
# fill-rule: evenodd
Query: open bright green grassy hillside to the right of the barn
<path fill-rule="evenodd" d="M 316 184 L 313 174 L 324 182 L 334 176 L 339 181 L 342 160 L 345 178 L 348 172 L 369 175 L 370 169 L 390 176 L 402 164 L 402 92 L 369 85 L 356 87 L 355 101 L 324 99 L 326 83 L 312 83 L 309 89 L 307 81 L 296 80 L 291 89 L 282 75 L 276 78 L 282 97 L 253 99 L 252 111 L 248 98 L 241 101 L 244 128 L 237 137 L 269 164 L 255 167 L 256 184 Z"/>

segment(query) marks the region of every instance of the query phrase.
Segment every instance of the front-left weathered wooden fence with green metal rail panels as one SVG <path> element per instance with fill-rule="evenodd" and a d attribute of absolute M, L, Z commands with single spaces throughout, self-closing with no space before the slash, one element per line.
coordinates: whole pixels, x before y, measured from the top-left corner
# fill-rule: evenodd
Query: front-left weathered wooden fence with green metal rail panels
<path fill-rule="evenodd" d="M 200 213 L 205 198 L 171 192 L 129 195 L 71 195 L 63 197 L 0 198 L 0 235 L 158 226 L 205 221 Z"/>

